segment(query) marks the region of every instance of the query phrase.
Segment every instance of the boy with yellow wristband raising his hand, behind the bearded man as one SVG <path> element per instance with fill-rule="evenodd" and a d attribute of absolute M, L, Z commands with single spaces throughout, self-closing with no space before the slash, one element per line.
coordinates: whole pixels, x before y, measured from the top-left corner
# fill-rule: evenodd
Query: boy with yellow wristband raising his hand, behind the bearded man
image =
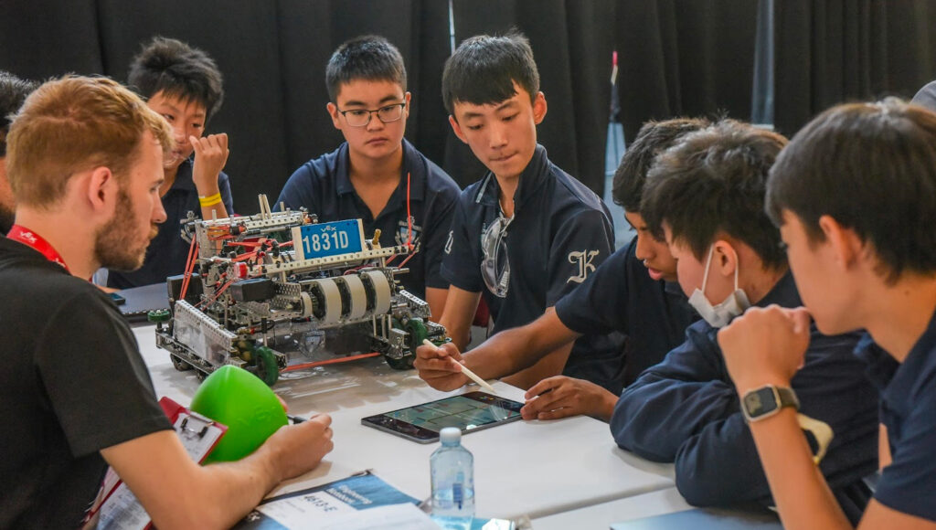
<path fill-rule="evenodd" d="M 165 37 L 154 37 L 130 64 L 127 84 L 172 127 L 175 146 L 167 151 L 165 182 L 159 188 L 167 222 L 134 272 L 111 271 L 108 287 L 119 289 L 166 281 L 185 269 L 189 243 L 180 236 L 189 212 L 202 219 L 233 213 L 227 162 L 227 134 L 205 134 L 221 108 L 221 72 L 207 53 Z M 195 154 L 193 159 L 193 153 Z"/>

